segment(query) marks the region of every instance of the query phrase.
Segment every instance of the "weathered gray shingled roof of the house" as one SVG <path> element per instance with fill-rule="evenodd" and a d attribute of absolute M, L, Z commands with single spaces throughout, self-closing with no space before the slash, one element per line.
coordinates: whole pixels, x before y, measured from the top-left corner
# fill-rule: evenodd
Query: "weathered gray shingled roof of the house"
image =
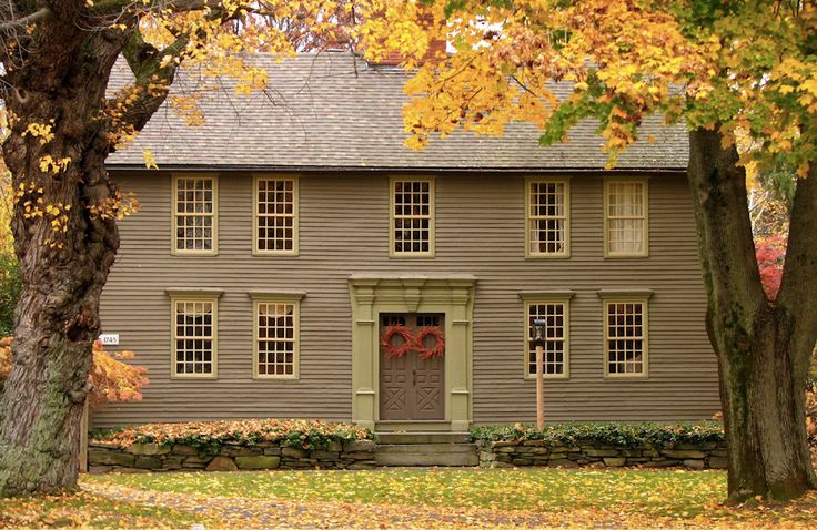
<path fill-rule="evenodd" d="M 185 125 L 165 104 L 133 144 L 109 157 L 109 166 L 144 166 L 145 149 L 160 169 L 601 170 L 607 161 L 592 122 L 572 131 L 568 143 L 549 147 L 538 145 L 535 126 L 514 123 L 501 139 L 456 133 L 415 152 L 403 146 L 404 72 L 367 68 L 349 53 L 252 61 L 270 71 L 265 94 L 235 95 L 229 83 L 204 92 L 205 123 L 198 126 Z M 120 61 L 111 84 L 121 86 L 129 75 Z M 198 72 L 180 72 L 173 90 L 193 90 L 200 82 Z M 683 126 L 650 118 L 642 126 L 647 135 L 656 142 L 633 145 L 618 169 L 686 167 Z"/>

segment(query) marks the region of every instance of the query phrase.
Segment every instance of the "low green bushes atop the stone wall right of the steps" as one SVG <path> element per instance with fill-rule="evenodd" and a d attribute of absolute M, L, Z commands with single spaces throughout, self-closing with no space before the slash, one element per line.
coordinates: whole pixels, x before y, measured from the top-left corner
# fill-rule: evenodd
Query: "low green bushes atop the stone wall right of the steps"
<path fill-rule="evenodd" d="M 532 425 L 473 427 L 472 441 L 545 440 L 548 444 L 572 445 L 595 442 L 605 446 L 653 447 L 676 444 L 707 444 L 724 441 L 724 428 L 716 421 L 700 424 L 654 424 L 654 422 L 596 422 L 557 424 L 545 426 L 544 430 Z"/>

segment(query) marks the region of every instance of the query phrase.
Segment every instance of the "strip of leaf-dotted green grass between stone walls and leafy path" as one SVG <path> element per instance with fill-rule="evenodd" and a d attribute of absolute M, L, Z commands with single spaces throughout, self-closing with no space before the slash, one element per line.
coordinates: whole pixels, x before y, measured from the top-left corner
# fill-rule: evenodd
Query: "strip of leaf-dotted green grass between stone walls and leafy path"
<path fill-rule="evenodd" d="M 406 506 L 566 511 L 637 510 L 694 517 L 726 497 L 720 471 L 381 470 L 108 475 L 85 479 L 131 488 L 226 497 Z"/>

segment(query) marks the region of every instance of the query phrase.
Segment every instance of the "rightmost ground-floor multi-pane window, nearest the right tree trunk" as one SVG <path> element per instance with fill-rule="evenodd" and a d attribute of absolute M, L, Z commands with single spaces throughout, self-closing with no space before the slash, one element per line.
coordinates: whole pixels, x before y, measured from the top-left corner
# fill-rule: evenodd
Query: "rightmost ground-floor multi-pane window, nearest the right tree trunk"
<path fill-rule="evenodd" d="M 647 367 L 647 303 L 605 302 L 609 376 L 644 376 Z"/>

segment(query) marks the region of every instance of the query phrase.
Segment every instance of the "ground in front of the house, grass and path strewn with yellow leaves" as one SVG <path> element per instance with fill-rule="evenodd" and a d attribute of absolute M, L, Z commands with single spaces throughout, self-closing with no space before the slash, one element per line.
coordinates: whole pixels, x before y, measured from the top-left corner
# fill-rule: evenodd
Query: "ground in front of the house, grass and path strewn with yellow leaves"
<path fill-rule="evenodd" d="M 725 507 L 719 471 L 406 470 L 90 476 L 0 500 L 0 527 L 814 528 L 817 492 Z"/>

